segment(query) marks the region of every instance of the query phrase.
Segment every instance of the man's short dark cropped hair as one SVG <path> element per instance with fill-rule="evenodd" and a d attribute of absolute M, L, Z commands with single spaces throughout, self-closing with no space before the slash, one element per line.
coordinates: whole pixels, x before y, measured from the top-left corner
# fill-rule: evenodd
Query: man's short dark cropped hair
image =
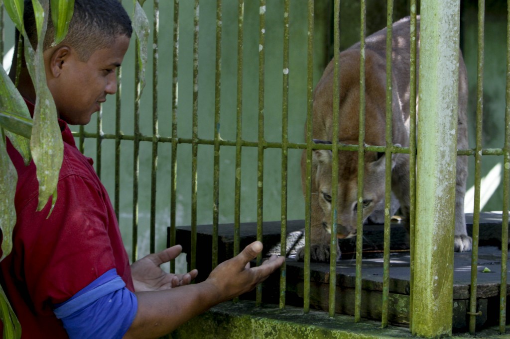
<path fill-rule="evenodd" d="M 55 27 L 48 15 L 48 26 L 44 38 L 44 50 L 55 40 Z M 37 29 L 31 0 L 24 1 L 23 21 L 32 46 L 37 44 Z M 107 47 L 119 35 L 131 38 L 131 19 L 118 0 L 74 0 L 74 13 L 69 31 L 62 43 L 78 51 L 82 61 L 87 61 L 97 49 Z"/>

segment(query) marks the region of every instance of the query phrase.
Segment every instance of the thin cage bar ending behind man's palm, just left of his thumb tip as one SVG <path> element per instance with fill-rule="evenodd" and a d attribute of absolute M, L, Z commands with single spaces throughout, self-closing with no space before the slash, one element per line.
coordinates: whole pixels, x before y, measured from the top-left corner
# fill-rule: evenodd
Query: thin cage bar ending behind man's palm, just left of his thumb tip
<path fill-rule="evenodd" d="M 234 255 L 238 255 L 240 247 L 241 226 L 241 154 L 242 154 L 242 122 L 243 122 L 243 26 L 244 0 L 239 0 L 237 12 L 237 106 L 236 106 L 236 181 L 234 208 Z"/>

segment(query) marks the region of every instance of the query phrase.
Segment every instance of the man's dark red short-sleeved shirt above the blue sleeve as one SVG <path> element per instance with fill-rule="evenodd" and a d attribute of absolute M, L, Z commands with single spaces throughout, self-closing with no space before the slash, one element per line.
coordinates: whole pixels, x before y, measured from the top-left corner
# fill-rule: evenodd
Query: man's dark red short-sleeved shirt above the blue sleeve
<path fill-rule="evenodd" d="M 23 338 L 67 338 L 52 305 L 71 298 L 112 268 L 134 292 L 129 258 L 108 193 L 92 159 L 76 148 L 67 124 L 61 120 L 59 124 L 64 158 L 58 199 L 49 218 L 50 202 L 36 212 L 39 184 L 34 162 L 25 166 L 10 142 L 7 146 L 18 173 L 17 221 L 12 252 L 0 262 L 0 281 L 21 323 Z"/>

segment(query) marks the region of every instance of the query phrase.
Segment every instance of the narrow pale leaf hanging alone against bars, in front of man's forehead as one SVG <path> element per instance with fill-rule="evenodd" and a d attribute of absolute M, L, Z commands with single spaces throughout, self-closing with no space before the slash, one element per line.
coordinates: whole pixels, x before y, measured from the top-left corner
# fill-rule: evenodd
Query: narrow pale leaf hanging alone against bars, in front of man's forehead
<path fill-rule="evenodd" d="M 143 1 L 142 1 L 143 4 Z M 137 38 L 138 46 L 138 79 L 140 90 L 138 91 L 138 98 L 142 94 L 145 86 L 145 64 L 147 63 L 147 41 L 149 39 L 149 20 L 142 9 L 142 6 L 135 0 L 135 9 L 133 13 L 133 29 Z"/>

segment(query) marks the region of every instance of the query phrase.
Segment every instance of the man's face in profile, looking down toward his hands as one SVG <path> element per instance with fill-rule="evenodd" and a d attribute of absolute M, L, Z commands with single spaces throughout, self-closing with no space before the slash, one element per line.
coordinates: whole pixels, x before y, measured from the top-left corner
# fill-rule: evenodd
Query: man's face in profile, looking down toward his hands
<path fill-rule="evenodd" d="M 117 92 L 115 69 L 122 63 L 129 41 L 117 36 L 113 44 L 97 49 L 86 62 L 80 61 L 76 50 L 69 50 L 60 62 L 60 74 L 48 81 L 60 119 L 70 125 L 86 125 L 106 95 Z"/>

